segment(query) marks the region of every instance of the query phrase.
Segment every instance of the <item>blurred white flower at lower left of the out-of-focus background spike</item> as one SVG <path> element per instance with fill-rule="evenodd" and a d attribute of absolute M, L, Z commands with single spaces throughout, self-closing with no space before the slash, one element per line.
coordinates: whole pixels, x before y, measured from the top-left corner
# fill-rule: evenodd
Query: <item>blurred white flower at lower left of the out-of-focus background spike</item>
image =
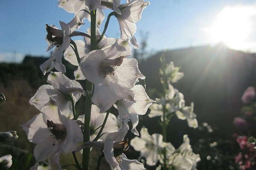
<path fill-rule="evenodd" d="M 134 150 L 140 151 L 140 156 L 145 157 L 146 164 L 149 166 L 154 166 L 157 164 L 159 159 L 160 150 L 165 147 L 165 142 L 163 142 L 163 135 L 154 133 L 150 135 L 148 129 L 143 127 L 140 130 L 140 136 L 131 139 L 131 146 Z"/>

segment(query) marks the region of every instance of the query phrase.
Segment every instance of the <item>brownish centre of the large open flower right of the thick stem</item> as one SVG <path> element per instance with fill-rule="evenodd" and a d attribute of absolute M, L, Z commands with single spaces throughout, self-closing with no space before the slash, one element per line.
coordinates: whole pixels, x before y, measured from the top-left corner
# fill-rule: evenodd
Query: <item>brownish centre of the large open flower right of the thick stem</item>
<path fill-rule="evenodd" d="M 100 72 L 103 74 L 103 77 L 108 75 L 115 75 L 115 70 L 117 66 L 122 64 L 124 56 L 120 56 L 116 59 L 105 59 L 100 65 Z"/>

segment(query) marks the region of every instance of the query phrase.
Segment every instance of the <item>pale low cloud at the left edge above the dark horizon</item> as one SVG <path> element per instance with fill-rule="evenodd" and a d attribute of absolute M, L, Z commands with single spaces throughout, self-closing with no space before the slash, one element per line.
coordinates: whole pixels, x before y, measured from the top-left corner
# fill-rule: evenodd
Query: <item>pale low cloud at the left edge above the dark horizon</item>
<path fill-rule="evenodd" d="M 11 52 L 0 52 L 0 62 L 22 62 L 24 54 L 11 53 Z"/>

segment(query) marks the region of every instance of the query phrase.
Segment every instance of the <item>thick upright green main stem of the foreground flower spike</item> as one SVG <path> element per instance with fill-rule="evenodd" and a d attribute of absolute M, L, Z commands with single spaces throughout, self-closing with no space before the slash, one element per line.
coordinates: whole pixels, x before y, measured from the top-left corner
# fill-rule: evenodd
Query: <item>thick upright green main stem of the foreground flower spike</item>
<path fill-rule="evenodd" d="M 90 11 L 91 17 L 91 42 L 90 42 L 90 51 L 97 49 L 96 44 L 96 10 Z M 86 91 L 93 90 L 93 83 L 86 80 Z M 87 96 L 85 99 L 85 113 L 84 113 L 84 131 L 83 142 L 90 141 L 90 116 L 91 116 L 92 102 L 90 96 Z M 89 170 L 89 158 L 90 158 L 90 148 L 83 149 L 83 161 L 82 161 L 82 170 Z"/>

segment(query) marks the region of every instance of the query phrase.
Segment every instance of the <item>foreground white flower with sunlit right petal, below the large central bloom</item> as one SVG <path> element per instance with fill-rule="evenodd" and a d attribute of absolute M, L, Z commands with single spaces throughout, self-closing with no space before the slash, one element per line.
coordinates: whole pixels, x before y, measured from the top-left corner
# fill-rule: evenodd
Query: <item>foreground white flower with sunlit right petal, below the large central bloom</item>
<path fill-rule="evenodd" d="M 147 112 L 148 107 L 155 101 L 148 97 L 142 85 L 135 85 L 131 90 L 134 92 L 135 102 L 121 99 L 116 103 L 116 106 L 119 112 L 119 119 L 122 121 L 131 120 L 133 125 L 131 132 L 139 135 L 136 130 L 136 126 L 139 123 L 138 115 L 144 115 Z"/>

